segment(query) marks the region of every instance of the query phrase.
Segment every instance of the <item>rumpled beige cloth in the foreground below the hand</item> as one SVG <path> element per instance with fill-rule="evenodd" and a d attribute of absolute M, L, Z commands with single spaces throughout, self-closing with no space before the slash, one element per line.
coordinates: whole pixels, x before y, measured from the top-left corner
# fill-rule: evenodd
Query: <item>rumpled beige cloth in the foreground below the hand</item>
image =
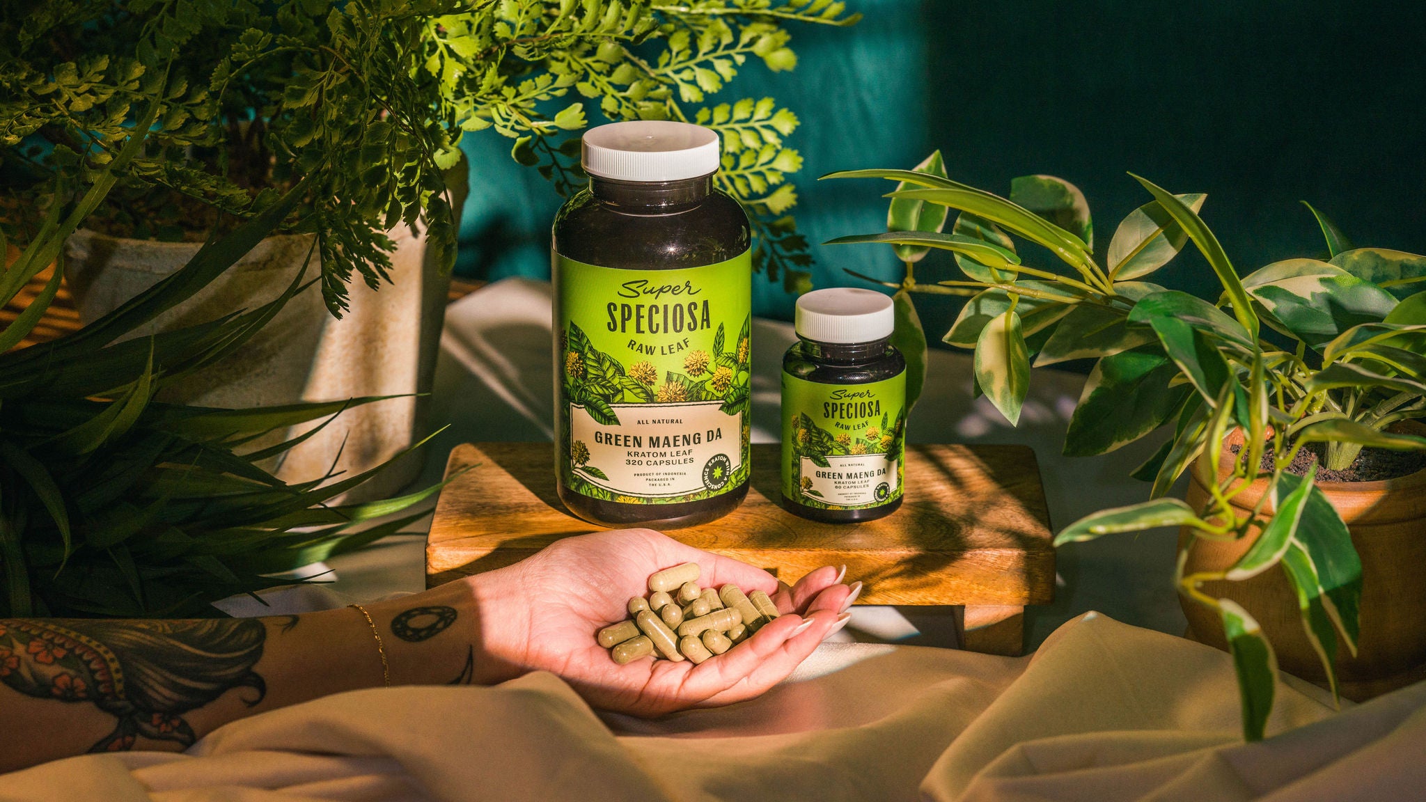
<path fill-rule="evenodd" d="M 1102 615 L 1027 658 L 827 644 L 764 696 L 657 721 L 590 711 L 549 674 L 389 688 L 224 726 L 187 753 L 0 776 L 0 799 L 1410 799 L 1426 684 L 1338 714 L 1285 679 L 1243 743 L 1228 655 Z"/>

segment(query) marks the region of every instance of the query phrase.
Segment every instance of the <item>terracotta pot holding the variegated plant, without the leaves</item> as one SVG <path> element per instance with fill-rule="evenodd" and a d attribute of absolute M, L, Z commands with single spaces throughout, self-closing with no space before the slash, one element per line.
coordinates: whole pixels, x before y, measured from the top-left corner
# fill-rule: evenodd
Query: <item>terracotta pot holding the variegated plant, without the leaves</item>
<path fill-rule="evenodd" d="M 1412 434 L 1422 427 L 1413 424 Z M 1228 437 L 1228 445 L 1242 444 L 1242 432 Z M 1228 475 L 1236 455 L 1224 450 L 1218 477 Z M 1201 479 L 1211 471 L 1208 457 L 1191 471 L 1188 504 L 1195 509 L 1208 501 Z M 1336 507 L 1352 532 L 1352 544 L 1362 558 L 1362 632 L 1356 658 L 1339 644 L 1336 656 L 1338 686 L 1353 701 L 1410 685 L 1426 678 L 1426 471 L 1375 482 L 1319 482 L 1322 492 Z M 1262 498 L 1266 481 L 1259 479 L 1233 498 L 1233 507 L 1246 514 Z M 1271 507 L 1265 507 L 1271 511 Z M 1192 534 L 1179 532 L 1179 547 Z M 1258 529 L 1236 542 L 1199 541 L 1186 572 L 1222 571 L 1258 538 Z M 1243 605 L 1262 625 L 1278 665 L 1323 688 L 1326 672 L 1302 632 L 1296 595 L 1282 569 L 1272 568 L 1242 582 L 1205 582 L 1204 592 L 1231 598 Z M 1191 599 L 1181 598 L 1188 616 L 1188 636 L 1226 649 L 1218 615 Z"/>

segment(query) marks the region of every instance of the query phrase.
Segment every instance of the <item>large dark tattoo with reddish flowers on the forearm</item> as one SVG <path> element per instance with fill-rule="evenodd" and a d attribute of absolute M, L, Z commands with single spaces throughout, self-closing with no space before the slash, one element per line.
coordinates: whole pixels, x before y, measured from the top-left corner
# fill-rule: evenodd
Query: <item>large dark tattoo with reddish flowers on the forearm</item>
<path fill-rule="evenodd" d="M 267 695 L 252 671 L 265 639 L 254 618 L 0 619 L 0 682 L 40 699 L 91 702 L 118 719 L 90 752 L 130 749 L 138 736 L 188 746 L 195 735 L 184 714 L 232 688 L 251 689 L 248 706 Z"/>

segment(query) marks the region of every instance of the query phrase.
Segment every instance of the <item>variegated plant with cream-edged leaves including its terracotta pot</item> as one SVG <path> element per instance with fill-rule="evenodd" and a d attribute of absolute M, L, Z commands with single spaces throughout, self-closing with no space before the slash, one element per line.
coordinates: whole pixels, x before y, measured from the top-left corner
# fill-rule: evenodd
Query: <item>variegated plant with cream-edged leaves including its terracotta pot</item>
<path fill-rule="evenodd" d="M 950 234 L 930 218 L 833 243 L 955 254 L 965 275 L 933 291 L 970 300 L 945 341 L 974 348 L 977 388 L 1011 422 L 1031 360 L 1097 360 L 1065 454 L 1172 427 L 1134 471 L 1151 482 L 1148 501 L 1077 521 L 1055 542 L 1181 528 L 1175 587 L 1194 634 L 1233 655 L 1249 739 L 1263 735 L 1279 664 L 1353 696 L 1422 676 L 1426 437 L 1410 422 L 1426 417 L 1426 258 L 1350 248 L 1318 215 L 1329 261 L 1239 277 L 1198 215 L 1204 196 L 1138 178 L 1152 200 L 1119 224 L 1101 261 L 1088 204 L 1068 181 L 1017 178 L 1002 198 L 928 167 L 829 177 L 898 181 L 894 203 L 958 213 Z M 1012 237 L 1067 268 L 1024 264 Z M 1189 240 L 1219 298 L 1147 280 Z M 890 284 L 921 287 L 910 273 Z M 1188 499 L 1166 497 L 1191 467 Z"/>

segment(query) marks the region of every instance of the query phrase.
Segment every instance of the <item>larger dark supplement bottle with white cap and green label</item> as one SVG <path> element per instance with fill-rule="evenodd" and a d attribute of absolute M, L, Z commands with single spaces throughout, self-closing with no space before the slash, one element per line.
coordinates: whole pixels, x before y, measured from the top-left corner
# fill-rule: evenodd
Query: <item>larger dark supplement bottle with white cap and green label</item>
<path fill-rule="evenodd" d="M 747 215 L 699 126 L 590 128 L 583 164 L 553 231 L 559 497 L 610 527 L 712 521 L 750 472 Z"/>

